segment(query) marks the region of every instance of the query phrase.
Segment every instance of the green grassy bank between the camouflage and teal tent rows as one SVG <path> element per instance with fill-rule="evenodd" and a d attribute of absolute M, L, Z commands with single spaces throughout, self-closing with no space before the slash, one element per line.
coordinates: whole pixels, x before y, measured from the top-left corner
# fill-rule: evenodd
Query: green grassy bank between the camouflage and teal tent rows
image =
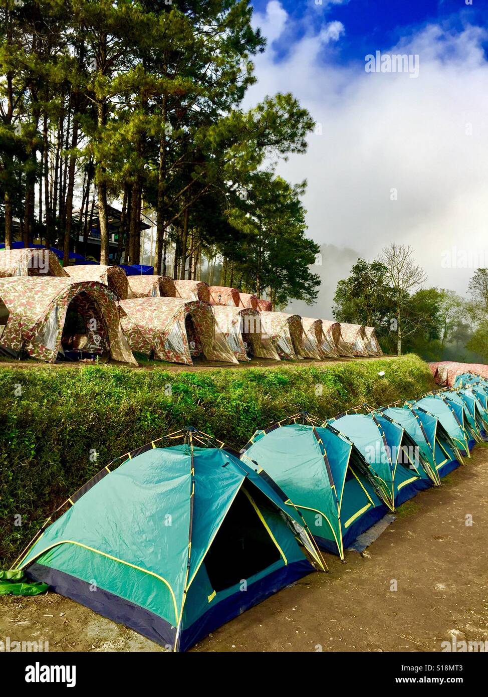
<path fill-rule="evenodd" d="M 432 387 L 415 355 L 198 372 L 0 365 L 0 568 L 105 464 L 170 431 L 191 424 L 239 449 L 255 429 L 297 411 L 327 418 Z"/>

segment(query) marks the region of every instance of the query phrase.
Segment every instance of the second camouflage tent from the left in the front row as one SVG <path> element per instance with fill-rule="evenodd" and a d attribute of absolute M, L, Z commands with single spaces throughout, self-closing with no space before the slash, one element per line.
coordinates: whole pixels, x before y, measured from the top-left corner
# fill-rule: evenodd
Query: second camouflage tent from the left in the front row
<path fill-rule="evenodd" d="M 237 363 L 217 327 L 212 307 L 182 298 L 129 298 L 118 303 L 120 323 L 132 351 L 157 360 L 193 365 L 207 360 Z"/>

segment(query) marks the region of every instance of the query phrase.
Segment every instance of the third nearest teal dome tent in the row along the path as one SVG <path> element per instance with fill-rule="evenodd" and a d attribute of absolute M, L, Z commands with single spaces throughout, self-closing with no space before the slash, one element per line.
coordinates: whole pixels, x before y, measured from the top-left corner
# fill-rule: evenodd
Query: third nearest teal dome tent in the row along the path
<path fill-rule="evenodd" d="M 378 496 L 392 511 L 430 486 L 416 445 L 407 431 L 381 413 L 346 414 L 328 422 L 352 441 L 378 484 Z"/>

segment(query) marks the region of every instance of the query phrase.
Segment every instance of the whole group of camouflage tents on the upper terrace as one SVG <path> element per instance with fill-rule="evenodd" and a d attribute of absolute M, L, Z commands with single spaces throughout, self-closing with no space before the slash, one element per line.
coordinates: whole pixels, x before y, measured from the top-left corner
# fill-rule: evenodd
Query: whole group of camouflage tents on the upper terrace
<path fill-rule="evenodd" d="M 136 352 L 192 365 L 382 355 L 372 327 L 272 312 L 269 300 L 233 288 L 127 277 L 117 266 L 63 268 L 52 252 L 42 250 L 45 264 L 36 254 L 0 251 L 0 349 L 13 357 L 136 365 Z"/>

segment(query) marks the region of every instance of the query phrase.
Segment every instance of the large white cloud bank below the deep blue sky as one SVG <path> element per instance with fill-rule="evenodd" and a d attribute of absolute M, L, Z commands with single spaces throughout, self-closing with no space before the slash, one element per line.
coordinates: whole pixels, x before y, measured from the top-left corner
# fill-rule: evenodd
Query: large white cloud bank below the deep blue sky
<path fill-rule="evenodd" d="M 258 56 L 247 105 L 291 91 L 320 124 L 308 153 L 280 165 L 289 181 L 308 180 L 308 233 L 317 243 L 367 259 L 393 240 L 409 243 L 430 284 L 464 293 L 473 270 L 446 270 L 441 253 L 488 247 L 487 32 L 432 25 L 405 38 L 391 51 L 418 54 L 419 75 L 409 79 L 366 73 L 361 62 L 338 66 L 328 52 L 343 31 L 329 22 L 279 62 L 272 52 Z"/>

